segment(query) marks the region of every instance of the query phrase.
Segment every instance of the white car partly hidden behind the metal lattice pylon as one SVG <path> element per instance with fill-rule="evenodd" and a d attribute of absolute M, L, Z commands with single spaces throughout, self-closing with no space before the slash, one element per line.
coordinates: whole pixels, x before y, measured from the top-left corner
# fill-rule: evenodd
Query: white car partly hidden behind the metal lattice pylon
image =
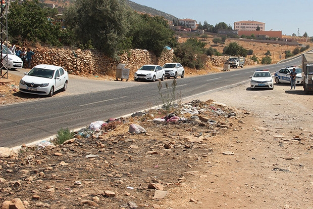
<path fill-rule="evenodd" d="M 12 52 L 6 45 L 2 45 L 0 50 L 2 50 L 2 63 L 4 66 L 7 66 L 8 69 L 17 69 L 23 67 L 22 59 L 15 55 L 15 48 Z"/>

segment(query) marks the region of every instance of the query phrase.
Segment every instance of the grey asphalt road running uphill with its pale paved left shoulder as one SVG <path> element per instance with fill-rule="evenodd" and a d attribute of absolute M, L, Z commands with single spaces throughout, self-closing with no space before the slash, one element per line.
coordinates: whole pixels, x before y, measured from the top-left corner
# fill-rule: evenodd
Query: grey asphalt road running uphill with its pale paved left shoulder
<path fill-rule="evenodd" d="M 269 69 L 274 73 L 284 66 L 300 64 L 300 58 L 297 58 L 262 68 L 178 78 L 176 93 L 181 95 L 183 101 L 200 99 L 201 95 L 247 82 L 255 69 Z M 166 82 L 171 86 L 172 81 L 162 81 L 163 95 L 167 92 Z M 76 130 L 89 126 L 92 121 L 121 117 L 160 105 L 162 102 L 157 86 L 158 82 L 70 78 L 64 96 L 0 106 L 0 147 L 20 146 L 54 136 L 60 128 Z"/>

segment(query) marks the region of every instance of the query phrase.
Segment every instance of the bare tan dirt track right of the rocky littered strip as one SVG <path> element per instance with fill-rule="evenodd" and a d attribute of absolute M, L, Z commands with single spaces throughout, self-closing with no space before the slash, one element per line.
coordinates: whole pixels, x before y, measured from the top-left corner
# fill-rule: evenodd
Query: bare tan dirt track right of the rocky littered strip
<path fill-rule="evenodd" d="M 213 151 L 173 191 L 171 208 L 313 208 L 312 95 L 288 85 L 274 91 L 248 86 L 200 98 L 251 114 L 242 119 L 242 130 L 210 141 Z"/>

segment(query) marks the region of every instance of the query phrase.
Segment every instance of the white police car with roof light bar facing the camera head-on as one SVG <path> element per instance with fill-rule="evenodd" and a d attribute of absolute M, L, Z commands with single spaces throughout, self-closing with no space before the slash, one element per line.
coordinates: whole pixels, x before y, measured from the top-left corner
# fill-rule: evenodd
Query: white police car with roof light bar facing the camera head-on
<path fill-rule="evenodd" d="M 274 80 L 270 71 L 268 69 L 264 70 L 255 70 L 253 75 L 249 76 L 250 80 L 250 88 L 254 89 L 274 89 Z"/>

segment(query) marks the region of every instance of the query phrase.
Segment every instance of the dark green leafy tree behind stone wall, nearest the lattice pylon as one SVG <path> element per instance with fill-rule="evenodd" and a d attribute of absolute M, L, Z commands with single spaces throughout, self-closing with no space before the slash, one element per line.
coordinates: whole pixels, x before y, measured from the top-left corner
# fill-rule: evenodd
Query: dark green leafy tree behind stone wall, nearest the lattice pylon
<path fill-rule="evenodd" d="M 11 2 L 8 14 L 8 33 L 13 43 L 22 41 L 41 41 L 51 45 L 60 45 L 62 33 L 60 24 L 52 24 L 48 16 L 57 11 L 43 8 L 43 5 L 34 1 Z"/>

